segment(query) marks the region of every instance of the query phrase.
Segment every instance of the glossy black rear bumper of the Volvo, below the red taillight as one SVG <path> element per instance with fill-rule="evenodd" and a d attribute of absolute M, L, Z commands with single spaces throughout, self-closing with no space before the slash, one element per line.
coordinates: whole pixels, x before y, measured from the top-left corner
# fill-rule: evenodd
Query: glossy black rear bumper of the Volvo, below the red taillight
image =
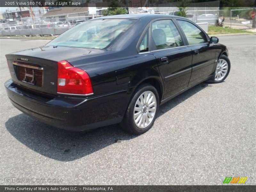
<path fill-rule="evenodd" d="M 45 98 L 5 82 L 14 107 L 46 124 L 69 131 L 84 131 L 120 123 L 129 102 L 127 90 L 90 98 L 56 96 Z"/>

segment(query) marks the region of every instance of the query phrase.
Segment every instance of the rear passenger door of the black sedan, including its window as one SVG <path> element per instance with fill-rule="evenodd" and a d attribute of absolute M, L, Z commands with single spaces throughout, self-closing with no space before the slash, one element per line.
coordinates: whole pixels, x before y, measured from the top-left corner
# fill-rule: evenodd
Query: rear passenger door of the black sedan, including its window
<path fill-rule="evenodd" d="M 172 19 L 151 21 L 151 37 L 151 52 L 158 62 L 166 99 L 188 86 L 192 53 Z"/>

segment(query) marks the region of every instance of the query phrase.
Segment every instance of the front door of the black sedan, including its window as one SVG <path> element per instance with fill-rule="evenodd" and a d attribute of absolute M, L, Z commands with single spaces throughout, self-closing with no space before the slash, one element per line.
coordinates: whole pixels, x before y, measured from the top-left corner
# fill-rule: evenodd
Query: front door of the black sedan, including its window
<path fill-rule="evenodd" d="M 190 86 L 211 75 L 215 63 L 216 48 L 209 44 L 209 37 L 192 22 L 179 19 L 177 23 L 193 53 L 192 74 L 188 84 Z"/>

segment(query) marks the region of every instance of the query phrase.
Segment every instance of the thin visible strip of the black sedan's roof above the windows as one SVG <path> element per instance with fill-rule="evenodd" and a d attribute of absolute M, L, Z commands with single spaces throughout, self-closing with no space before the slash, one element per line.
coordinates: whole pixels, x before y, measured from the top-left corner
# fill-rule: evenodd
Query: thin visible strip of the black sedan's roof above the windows
<path fill-rule="evenodd" d="M 162 17 L 183 18 L 179 16 L 164 15 L 164 14 L 126 14 L 126 15 L 111 15 L 111 16 L 105 16 L 105 17 L 98 17 L 96 19 L 141 19 L 141 18 L 157 19 Z"/>

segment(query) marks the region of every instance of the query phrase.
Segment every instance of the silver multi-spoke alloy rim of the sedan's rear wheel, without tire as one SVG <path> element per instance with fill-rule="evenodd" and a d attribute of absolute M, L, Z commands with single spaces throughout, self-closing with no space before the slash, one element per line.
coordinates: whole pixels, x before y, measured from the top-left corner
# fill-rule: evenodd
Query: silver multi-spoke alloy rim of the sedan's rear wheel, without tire
<path fill-rule="evenodd" d="M 156 96 L 151 91 L 143 92 L 135 103 L 133 120 L 138 128 L 147 127 L 156 114 Z"/>

